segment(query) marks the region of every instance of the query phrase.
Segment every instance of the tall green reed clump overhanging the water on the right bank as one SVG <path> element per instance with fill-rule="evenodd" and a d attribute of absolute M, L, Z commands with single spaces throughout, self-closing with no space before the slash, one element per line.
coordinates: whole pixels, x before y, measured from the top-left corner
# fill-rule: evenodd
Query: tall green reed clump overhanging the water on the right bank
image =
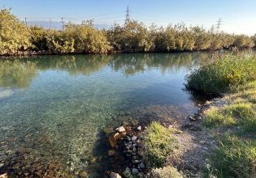
<path fill-rule="evenodd" d="M 193 70 L 187 77 L 189 90 L 219 94 L 256 79 L 255 57 L 226 56 Z"/>

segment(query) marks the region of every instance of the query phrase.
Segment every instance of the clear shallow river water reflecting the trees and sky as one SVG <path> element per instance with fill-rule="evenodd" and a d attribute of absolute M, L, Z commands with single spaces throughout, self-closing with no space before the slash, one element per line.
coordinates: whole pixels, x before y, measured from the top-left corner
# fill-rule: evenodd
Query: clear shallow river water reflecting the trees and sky
<path fill-rule="evenodd" d="M 131 119 L 182 119 L 195 112 L 197 100 L 183 90 L 184 77 L 209 56 L 137 53 L 0 61 L 2 167 L 24 172 L 35 163 L 54 162 L 71 174 L 106 171 L 104 161 L 90 163 L 94 157 L 107 162 L 102 130 Z"/>

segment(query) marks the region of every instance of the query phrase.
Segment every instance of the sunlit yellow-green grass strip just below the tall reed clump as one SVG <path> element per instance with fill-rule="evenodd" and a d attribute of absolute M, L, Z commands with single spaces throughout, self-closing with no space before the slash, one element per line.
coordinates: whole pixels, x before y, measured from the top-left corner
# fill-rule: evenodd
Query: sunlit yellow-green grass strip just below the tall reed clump
<path fill-rule="evenodd" d="M 206 110 L 204 125 L 206 127 L 240 126 L 245 134 L 256 134 L 255 93 L 256 83 L 249 83 L 241 87 L 241 91 L 228 95 L 225 99 L 228 105 Z"/>

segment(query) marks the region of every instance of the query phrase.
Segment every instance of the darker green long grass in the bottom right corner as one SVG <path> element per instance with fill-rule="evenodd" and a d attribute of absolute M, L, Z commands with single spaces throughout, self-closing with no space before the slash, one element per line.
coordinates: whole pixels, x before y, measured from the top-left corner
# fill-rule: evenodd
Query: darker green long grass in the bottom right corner
<path fill-rule="evenodd" d="M 255 177 L 256 142 L 226 135 L 213 151 L 210 163 L 218 177 Z"/>

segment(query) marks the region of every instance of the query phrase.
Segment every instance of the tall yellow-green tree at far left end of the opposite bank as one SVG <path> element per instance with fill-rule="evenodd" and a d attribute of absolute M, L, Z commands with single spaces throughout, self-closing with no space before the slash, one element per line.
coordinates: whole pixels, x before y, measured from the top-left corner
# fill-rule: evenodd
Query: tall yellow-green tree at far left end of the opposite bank
<path fill-rule="evenodd" d="M 28 49 L 29 34 L 24 23 L 8 9 L 0 9 L 0 19 L 0 54 L 13 54 Z"/>

